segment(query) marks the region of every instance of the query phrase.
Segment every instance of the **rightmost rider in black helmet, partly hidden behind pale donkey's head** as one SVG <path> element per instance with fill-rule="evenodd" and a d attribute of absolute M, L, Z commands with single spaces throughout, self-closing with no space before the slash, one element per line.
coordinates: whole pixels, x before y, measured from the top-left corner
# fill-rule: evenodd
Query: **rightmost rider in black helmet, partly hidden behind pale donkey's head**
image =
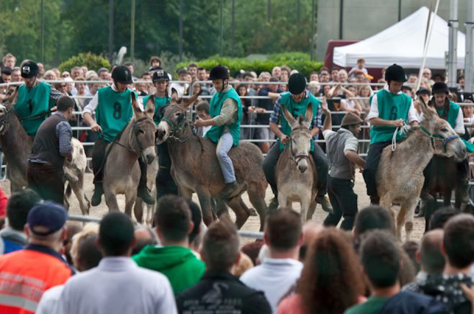
<path fill-rule="evenodd" d="M 454 131 L 459 135 L 463 136 L 466 132 L 464 128 L 464 117 L 461 107 L 454 102 L 450 101 L 447 97 L 449 94 L 448 86 L 443 82 L 437 82 L 433 85 L 432 89 L 433 98 L 430 100 L 429 105 L 434 107 L 438 112 L 438 116 L 441 119 L 446 120 L 449 125 L 454 129 Z M 469 137 L 468 137 L 469 139 Z M 426 166 L 423 174 L 425 175 L 425 183 L 423 185 L 423 191 L 428 193 L 428 187 L 431 179 L 431 164 Z M 461 181 L 459 182 L 459 196 L 461 196 L 461 202 L 469 202 L 469 161 L 468 158 L 457 163 L 457 169 L 461 176 Z M 432 197 L 431 197 L 432 198 Z"/>

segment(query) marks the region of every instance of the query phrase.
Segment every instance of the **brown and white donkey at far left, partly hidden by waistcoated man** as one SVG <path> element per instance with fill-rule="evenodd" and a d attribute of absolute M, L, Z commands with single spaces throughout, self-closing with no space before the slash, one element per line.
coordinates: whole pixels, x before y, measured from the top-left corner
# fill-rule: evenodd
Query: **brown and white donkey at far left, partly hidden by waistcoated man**
<path fill-rule="evenodd" d="M 13 110 L 17 94 L 18 92 L 15 91 L 5 102 L 0 104 L 0 146 L 7 162 L 6 176 L 10 180 L 11 192 L 18 191 L 28 185 L 26 172 L 28 157 L 33 146 L 32 138 L 27 135 Z M 82 215 L 88 215 L 90 203 L 84 193 L 86 168 L 84 147 L 75 138 L 72 139 L 71 144 L 73 146 L 73 160 L 64 163 L 65 177 L 69 182 L 65 202 L 69 208 L 68 198 L 72 188 L 79 201 Z"/>

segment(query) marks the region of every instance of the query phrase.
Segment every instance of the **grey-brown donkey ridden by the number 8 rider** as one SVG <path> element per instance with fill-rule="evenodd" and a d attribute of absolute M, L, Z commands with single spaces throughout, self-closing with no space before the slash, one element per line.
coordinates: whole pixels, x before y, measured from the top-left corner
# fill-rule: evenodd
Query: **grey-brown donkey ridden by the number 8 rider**
<path fill-rule="evenodd" d="M 119 139 L 107 148 L 104 168 L 104 196 L 111 210 L 119 210 L 117 194 L 125 194 L 125 213 L 132 216 L 132 207 L 137 199 L 140 181 L 138 158 L 144 156 L 151 164 L 155 158 L 155 129 L 153 122 L 154 105 L 147 105 L 146 112 L 139 108 L 135 94 L 132 93 L 132 107 L 135 117 L 125 126 Z M 135 207 L 135 218 L 143 222 L 143 208 Z"/>

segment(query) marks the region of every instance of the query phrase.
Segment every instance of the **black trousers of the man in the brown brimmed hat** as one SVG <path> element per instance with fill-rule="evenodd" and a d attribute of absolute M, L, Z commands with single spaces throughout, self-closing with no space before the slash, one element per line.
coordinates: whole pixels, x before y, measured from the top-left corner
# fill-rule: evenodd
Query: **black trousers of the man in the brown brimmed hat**
<path fill-rule="evenodd" d="M 352 230 L 357 214 L 357 194 L 354 193 L 354 182 L 347 179 L 329 177 L 328 195 L 333 212 L 324 220 L 325 226 L 336 226 L 344 217 L 341 229 Z"/>

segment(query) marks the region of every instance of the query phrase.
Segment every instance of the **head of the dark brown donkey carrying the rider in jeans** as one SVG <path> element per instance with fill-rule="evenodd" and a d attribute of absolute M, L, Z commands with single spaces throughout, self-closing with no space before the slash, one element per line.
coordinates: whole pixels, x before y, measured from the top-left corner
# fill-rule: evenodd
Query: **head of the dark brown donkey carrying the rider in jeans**
<path fill-rule="evenodd" d="M 196 93 L 189 98 L 178 98 L 173 89 L 171 94 L 171 104 L 165 106 L 161 113 L 161 122 L 156 130 L 157 143 L 165 142 L 170 136 L 180 137 L 182 129 L 186 125 L 186 111 L 194 103 L 201 93 Z"/>

